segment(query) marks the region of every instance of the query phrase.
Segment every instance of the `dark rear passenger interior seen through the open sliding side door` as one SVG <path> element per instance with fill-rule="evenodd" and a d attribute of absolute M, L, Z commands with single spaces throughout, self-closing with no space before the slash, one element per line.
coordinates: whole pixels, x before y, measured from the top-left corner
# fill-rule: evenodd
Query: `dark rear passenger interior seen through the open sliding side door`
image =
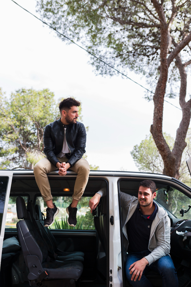
<path fill-rule="evenodd" d="M 1 258 L 1 286 L 107 286 L 107 196 L 101 199 L 93 214 L 88 205 L 97 191 L 107 187 L 107 181 L 88 180 L 78 203 L 76 227 L 66 222 L 66 207 L 72 200 L 75 178 L 50 177 L 49 181 L 53 201 L 60 209 L 50 228 L 44 227 L 46 206 L 34 177 L 12 180 Z"/>

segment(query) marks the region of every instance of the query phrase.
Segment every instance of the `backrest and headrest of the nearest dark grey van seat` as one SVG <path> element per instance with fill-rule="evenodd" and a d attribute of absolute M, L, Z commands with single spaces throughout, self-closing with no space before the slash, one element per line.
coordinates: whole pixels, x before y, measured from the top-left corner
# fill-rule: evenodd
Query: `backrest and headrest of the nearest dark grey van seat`
<path fill-rule="evenodd" d="M 27 267 L 28 255 L 36 255 L 41 263 L 46 261 L 48 250 L 33 223 L 27 219 L 25 201 L 21 196 L 16 199 L 16 208 L 17 218 L 20 219 L 17 222 L 17 233 Z"/>

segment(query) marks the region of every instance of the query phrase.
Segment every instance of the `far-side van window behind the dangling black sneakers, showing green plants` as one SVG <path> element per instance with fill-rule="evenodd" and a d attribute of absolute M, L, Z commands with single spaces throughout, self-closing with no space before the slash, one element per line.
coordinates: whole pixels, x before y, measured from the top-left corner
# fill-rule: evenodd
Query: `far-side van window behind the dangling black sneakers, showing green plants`
<path fill-rule="evenodd" d="M 56 207 L 59 208 L 60 212 L 55 218 L 54 224 L 50 226 L 50 229 L 82 229 L 82 230 L 93 230 L 93 216 L 90 213 L 89 200 L 90 196 L 82 196 L 78 202 L 77 211 L 77 225 L 70 226 L 67 223 L 68 214 L 66 208 L 71 203 L 71 196 L 54 196 L 53 201 Z M 41 211 L 46 217 L 46 203 L 41 196 L 36 197 L 36 204 L 40 205 Z M 45 211 L 44 211 L 45 210 Z"/>

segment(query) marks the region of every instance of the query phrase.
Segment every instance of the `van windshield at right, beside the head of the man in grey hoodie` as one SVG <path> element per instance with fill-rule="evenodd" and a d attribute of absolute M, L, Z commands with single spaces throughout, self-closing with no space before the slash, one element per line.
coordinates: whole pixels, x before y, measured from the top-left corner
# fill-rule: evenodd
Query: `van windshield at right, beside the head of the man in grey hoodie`
<path fill-rule="evenodd" d="M 158 187 L 155 200 L 177 218 L 191 218 L 191 209 L 184 213 L 184 217 L 180 214 L 181 209 L 188 210 L 188 205 L 191 205 L 191 199 L 179 190 L 170 186 Z"/>

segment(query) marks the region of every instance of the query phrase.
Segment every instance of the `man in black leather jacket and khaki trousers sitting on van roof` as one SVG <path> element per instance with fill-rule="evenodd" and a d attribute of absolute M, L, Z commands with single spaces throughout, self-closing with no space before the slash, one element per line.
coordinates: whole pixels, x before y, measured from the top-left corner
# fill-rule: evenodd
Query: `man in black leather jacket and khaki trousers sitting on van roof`
<path fill-rule="evenodd" d="M 66 208 L 69 217 L 67 222 L 70 226 L 76 226 L 77 204 L 81 199 L 84 189 L 88 182 L 90 167 L 88 162 L 82 158 L 86 152 L 86 130 L 78 119 L 78 106 L 80 102 L 73 98 L 64 99 L 59 104 L 60 119 L 46 125 L 44 129 L 43 158 L 34 166 L 34 175 L 37 185 L 40 189 L 44 201 L 46 201 L 46 219 L 45 226 L 54 223 L 54 217 L 59 209 L 52 202 L 52 195 L 47 173 L 53 170 L 59 170 L 58 174 L 64 176 L 67 170 L 73 170 L 78 175 L 74 185 L 74 194 L 72 203 Z"/>

